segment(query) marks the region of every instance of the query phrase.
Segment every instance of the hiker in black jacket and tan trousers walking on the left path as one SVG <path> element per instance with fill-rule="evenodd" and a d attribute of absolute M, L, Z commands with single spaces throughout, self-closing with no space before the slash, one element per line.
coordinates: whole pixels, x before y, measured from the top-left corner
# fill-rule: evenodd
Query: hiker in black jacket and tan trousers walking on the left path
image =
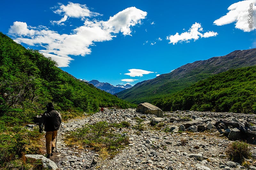
<path fill-rule="evenodd" d="M 53 104 L 50 102 L 46 105 L 47 111 L 42 115 L 39 122 L 39 132 L 45 133 L 45 146 L 46 146 L 46 158 L 50 158 L 56 147 L 57 131 L 61 124 L 61 115 L 58 111 L 54 110 Z M 57 149 L 56 149 L 57 152 Z"/>

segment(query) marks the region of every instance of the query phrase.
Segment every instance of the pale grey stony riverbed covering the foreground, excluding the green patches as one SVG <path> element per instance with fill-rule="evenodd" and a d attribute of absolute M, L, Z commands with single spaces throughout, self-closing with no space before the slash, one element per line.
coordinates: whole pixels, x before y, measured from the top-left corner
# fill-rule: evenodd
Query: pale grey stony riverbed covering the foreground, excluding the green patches
<path fill-rule="evenodd" d="M 166 112 L 164 115 L 164 119 L 158 119 L 154 115 L 136 113 L 135 109 L 105 109 L 103 114 L 99 112 L 82 119 L 64 122 L 58 131 L 58 153 L 55 153 L 50 159 L 60 170 L 247 169 L 226 157 L 225 149 L 232 141 L 223 135 L 224 131 L 220 132 L 212 125 L 219 119 L 228 119 L 232 116 L 241 122 L 247 121 L 256 124 L 253 122 L 255 115 L 195 111 Z M 144 120 L 142 123 L 145 130 L 140 133 L 137 129 L 132 128 L 137 124 L 134 117 Z M 161 123 L 161 127 L 159 125 L 151 126 L 152 119 L 160 121 L 158 124 Z M 187 131 L 188 125 L 185 122 L 191 120 L 199 121 L 199 124 L 193 125 L 193 122 L 189 122 L 193 126 L 190 125 L 190 131 Z M 65 145 L 63 140 L 65 134 L 75 131 L 76 128 L 81 128 L 84 124 L 93 124 L 98 121 L 130 122 L 131 127 L 115 129 L 116 133 L 125 133 L 129 137 L 130 144 L 115 157 L 108 159 L 102 159 L 99 154 L 86 147 L 80 149 L 77 146 L 70 148 Z M 197 129 L 201 129 L 202 132 L 198 132 Z M 170 132 L 166 132 L 167 130 Z M 178 132 L 171 132 L 172 130 Z M 253 165 L 253 161 L 256 159 L 256 146 L 250 144 L 250 151 L 253 158 L 248 161 Z M 252 165 L 249 169 L 256 169 Z"/>

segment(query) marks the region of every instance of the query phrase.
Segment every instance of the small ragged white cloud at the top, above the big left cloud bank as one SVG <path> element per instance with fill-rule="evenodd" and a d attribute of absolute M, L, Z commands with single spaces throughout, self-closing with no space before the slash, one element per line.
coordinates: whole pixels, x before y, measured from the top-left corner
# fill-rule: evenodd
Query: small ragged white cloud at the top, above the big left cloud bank
<path fill-rule="evenodd" d="M 59 3 L 59 5 L 60 7 L 53 12 L 56 14 L 64 15 L 64 17 L 61 18 L 59 21 L 51 21 L 52 23 L 56 23 L 58 25 L 62 22 L 65 22 L 68 17 L 85 19 L 86 17 L 94 17 L 100 15 L 97 12 L 90 11 L 85 4 L 82 5 L 69 2 L 66 6 L 61 3 Z"/>

